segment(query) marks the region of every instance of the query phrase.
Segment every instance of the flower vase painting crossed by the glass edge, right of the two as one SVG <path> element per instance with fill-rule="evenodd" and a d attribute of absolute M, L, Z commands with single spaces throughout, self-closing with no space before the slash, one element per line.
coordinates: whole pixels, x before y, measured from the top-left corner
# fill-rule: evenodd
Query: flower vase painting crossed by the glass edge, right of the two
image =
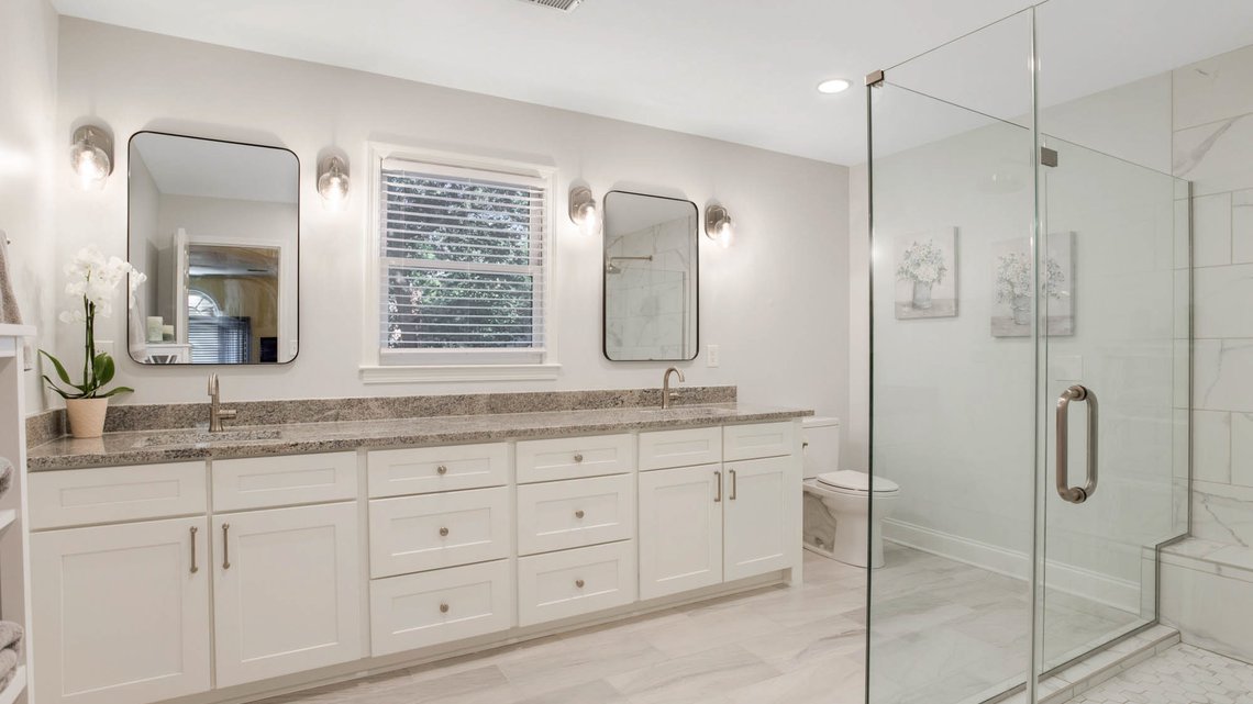
<path fill-rule="evenodd" d="M 1036 277 L 1029 238 L 992 244 L 992 337 L 1029 337 L 1036 303 L 1044 307 L 1045 334 L 1075 333 L 1074 246 L 1073 232 L 1050 234 L 1044 271 Z M 1032 296 L 1036 284 L 1037 297 Z"/>

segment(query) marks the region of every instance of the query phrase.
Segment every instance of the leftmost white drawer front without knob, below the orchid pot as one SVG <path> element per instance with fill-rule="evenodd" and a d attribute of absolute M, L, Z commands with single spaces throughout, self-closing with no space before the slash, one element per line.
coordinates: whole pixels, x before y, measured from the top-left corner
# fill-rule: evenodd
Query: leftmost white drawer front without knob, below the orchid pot
<path fill-rule="evenodd" d="M 204 462 L 30 475 L 34 530 L 204 514 Z"/>

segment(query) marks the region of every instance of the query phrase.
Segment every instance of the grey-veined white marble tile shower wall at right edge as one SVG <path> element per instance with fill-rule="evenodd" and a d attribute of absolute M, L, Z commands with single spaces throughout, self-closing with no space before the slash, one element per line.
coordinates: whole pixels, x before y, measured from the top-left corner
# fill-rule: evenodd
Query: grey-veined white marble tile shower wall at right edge
<path fill-rule="evenodd" d="M 1174 71 L 1193 183 L 1193 535 L 1253 547 L 1253 46 Z"/>

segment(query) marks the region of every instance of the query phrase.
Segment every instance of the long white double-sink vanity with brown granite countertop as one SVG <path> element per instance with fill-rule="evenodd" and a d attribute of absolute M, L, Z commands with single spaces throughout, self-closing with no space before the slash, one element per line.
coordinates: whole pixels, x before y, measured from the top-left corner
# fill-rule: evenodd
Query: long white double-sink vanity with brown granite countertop
<path fill-rule="evenodd" d="M 39 446 L 38 696 L 258 699 L 796 584 L 803 415 L 732 403 Z"/>

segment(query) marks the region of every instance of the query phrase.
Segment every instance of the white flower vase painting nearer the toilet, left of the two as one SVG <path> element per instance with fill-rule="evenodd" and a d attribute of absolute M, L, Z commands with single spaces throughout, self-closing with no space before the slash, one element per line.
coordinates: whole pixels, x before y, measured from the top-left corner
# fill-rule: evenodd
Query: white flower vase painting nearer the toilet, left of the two
<path fill-rule="evenodd" d="M 896 238 L 896 317 L 951 318 L 957 314 L 957 229 L 941 228 Z"/>

